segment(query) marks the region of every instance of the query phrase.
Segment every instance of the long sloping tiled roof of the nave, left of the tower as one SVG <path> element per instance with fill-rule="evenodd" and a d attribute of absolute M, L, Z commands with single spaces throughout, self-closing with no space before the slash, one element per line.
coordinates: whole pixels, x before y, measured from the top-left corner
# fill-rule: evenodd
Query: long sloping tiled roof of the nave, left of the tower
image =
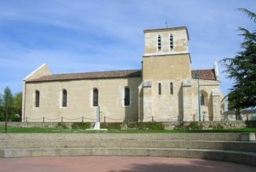
<path fill-rule="evenodd" d="M 84 72 L 59 75 L 45 75 L 33 80 L 28 80 L 27 82 L 42 82 L 56 80 L 90 80 L 119 77 L 141 77 L 141 70 L 118 70 L 107 72 Z"/>

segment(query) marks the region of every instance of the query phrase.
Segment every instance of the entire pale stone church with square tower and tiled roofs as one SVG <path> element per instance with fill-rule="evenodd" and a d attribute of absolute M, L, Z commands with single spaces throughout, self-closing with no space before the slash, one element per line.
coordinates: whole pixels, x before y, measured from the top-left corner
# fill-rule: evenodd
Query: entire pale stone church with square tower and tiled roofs
<path fill-rule="evenodd" d="M 188 29 L 146 29 L 142 69 L 54 75 L 46 64 L 24 78 L 28 122 L 221 120 L 218 65 L 191 70 Z"/>

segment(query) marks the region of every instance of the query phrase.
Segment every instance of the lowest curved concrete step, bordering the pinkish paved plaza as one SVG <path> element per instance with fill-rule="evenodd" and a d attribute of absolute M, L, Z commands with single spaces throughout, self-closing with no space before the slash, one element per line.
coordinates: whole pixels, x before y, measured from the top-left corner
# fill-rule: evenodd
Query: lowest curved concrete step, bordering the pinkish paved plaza
<path fill-rule="evenodd" d="M 185 148 L 16 148 L 1 149 L 0 157 L 37 156 L 160 156 L 230 161 L 256 166 L 256 153 Z"/>

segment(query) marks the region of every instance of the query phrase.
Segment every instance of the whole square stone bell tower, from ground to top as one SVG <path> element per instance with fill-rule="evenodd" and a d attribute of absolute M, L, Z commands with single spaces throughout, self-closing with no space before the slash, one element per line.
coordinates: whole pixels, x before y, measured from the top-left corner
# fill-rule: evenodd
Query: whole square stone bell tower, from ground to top
<path fill-rule="evenodd" d="M 191 79 L 188 29 L 146 29 L 142 60 L 140 121 L 183 119 L 183 80 Z"/>

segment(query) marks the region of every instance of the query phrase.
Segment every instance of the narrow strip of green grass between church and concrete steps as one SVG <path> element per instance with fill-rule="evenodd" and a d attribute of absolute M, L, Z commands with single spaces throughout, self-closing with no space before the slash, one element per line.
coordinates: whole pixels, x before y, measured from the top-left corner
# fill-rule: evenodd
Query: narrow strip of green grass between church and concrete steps
<path fill-rule="evenodd" d="M 242 128 L 229 130 L 118 130 L 93 131 L 84 129 L 65 128 L 7 128 L 7 133 L 256 133 L 256 128 Z M 0 133 L 4 133 L 4 126 L 0 126 Z"/>

